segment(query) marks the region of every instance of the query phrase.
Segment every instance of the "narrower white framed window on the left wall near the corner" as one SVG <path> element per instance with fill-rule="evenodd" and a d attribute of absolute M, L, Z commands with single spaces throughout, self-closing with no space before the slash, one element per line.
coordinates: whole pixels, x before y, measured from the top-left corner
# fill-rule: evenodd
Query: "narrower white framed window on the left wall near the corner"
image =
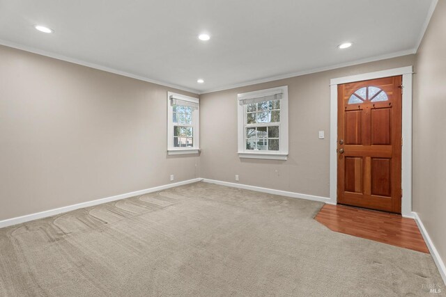
<path fill-rule="evenodd" d="M 197 154 L 199 145 L 198 98 L 167 93 L 167 154 Z"/>

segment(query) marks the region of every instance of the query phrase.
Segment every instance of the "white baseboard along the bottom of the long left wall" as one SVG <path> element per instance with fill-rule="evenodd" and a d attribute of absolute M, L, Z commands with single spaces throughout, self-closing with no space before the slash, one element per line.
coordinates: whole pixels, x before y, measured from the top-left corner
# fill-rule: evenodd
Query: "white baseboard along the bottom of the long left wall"
<path fill-rule="evenodd" d="M 146 188 L 146 189 L 140 190 L 140 191 L 134 191 L 134 192 L 125 193 L 125 194 L 116 195 L 116 196 L 107 197 L 107 198 L 102 198 L 102 199 L 98 199 L 98 200 L 82 202 L 82 203 L 78 203 L 78 204 L 69 205 L 66 207 L 59 207 L 57 209 L 41 211 L 36 214 L 27 214 L 26 216 L 18 216 L 17 218 L 8 218 L 6 220 L 0 220 L 0 228 L 8 227 L 10 225 L 17 225 L 20 223 L 29 222 L 30 220 L 37 220 L 38 218 L 47 218 L 48 216 L 62 214 L 64 212 L 72 211 L 75 209 L 80 209 L 80 208 L 84 208 L 84 207 L 92 207 L 92 206 L 102 204 L 102 203 L 107 203 L 107 202 L 111 202 L 111 201 L 130 198 L 130 197 L 137 196 L 137 195 L 144 195 L 144 194 L 153 193 L 156 191 L 162 191 L 162 190 L 165 190 L 166 188 L 174 188 L 175 186 L 183 186 L 184 184 L 192 184 L 194 182 L 200 182 L 200 181 L 201 181 L 201 178 L 188 179 L 183 182 L 176 182 L 173 184 L 164 184 L 163 186 L 155 186 L 153 188 Z"/>

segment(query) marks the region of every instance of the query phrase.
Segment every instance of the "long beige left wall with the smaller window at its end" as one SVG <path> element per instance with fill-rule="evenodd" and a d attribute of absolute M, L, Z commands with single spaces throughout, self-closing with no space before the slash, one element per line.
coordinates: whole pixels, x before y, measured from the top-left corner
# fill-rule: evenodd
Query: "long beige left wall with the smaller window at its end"
<path fill-rule="evenodd" d="M 0 65 L 0 220 L 199 177 L 166 155 L 173 89 L 2 46 Z"/>

